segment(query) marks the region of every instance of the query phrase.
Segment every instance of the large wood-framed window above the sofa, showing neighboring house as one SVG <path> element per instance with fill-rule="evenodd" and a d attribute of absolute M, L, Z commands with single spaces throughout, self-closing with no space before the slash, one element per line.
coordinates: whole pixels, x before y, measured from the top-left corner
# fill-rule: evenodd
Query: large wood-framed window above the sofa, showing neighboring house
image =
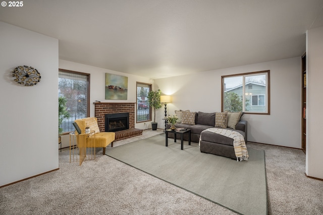
<path fill-rule="evenodd" d="M 270 114 L 270 71 L 222 76 L 222 111 Z"/>

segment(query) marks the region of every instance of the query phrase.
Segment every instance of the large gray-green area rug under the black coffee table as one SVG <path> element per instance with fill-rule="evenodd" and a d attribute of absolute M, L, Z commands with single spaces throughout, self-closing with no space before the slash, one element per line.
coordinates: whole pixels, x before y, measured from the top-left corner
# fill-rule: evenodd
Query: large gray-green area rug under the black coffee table
<path fill-rule="evenodd" d="M 247 146 L 248 147 L 248 146 Z M 109 148 L 106 155 L 241 214 L 267 214 L 264 151 L 243 162 L 201 153 L 198 143 L 165 134 Z"/>

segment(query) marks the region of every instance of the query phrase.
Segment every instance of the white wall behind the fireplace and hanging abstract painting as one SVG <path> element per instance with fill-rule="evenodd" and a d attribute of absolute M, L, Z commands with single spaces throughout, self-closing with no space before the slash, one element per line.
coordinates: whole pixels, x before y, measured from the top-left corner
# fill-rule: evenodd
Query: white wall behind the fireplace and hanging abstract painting
<path fill-rule="evenodd" d="M 84 64 L 78 64 L 70 61 L 59 60 L 59 68 L 65 70 L 72 70 L 77 72 L 89 73 L 90 75 L 90 117 L 94 117 L 95 100 L 101 102 L 137 102 L 136 82 L 143 82 L 152 84 L 153 80 L 141 76 L 130 75 L 113 70 L 106 70 L 98 67 L 93 67 Z M 128 99 L 127 100 L 106 100 L 105 99 L 105 73 L 122 75 L 128 77 Z M 135 128 L 148 129 L 151 128 L 150 122 L 135 123 Z M 64 135 L 62 137 L 62 147 L 69 146 L 69 137 Z"/>

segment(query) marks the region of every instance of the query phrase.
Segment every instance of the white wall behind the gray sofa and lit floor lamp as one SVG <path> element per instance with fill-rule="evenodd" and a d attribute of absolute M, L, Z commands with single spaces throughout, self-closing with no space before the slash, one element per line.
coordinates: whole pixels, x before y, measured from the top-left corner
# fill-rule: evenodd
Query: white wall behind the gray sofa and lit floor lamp
<path fill-rule="evenodd" d="M 156 88 L 173 95 L 168 113 L 175 110 L 221 112 L 221 76 L 270 70 L 271 115 L 244 115 L 248 141 L 301 148 L 301 58 L 156 79 Z M 164 109 L 158 110 L 164 128 Z"/>

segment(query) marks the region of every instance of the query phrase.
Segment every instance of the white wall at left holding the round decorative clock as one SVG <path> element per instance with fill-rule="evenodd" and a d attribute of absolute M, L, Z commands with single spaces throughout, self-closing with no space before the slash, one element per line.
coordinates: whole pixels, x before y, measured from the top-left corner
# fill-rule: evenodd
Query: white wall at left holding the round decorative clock
<path fill-rule="evenodd" d="M 0 22 L 0 186 L 59 168 L 58 40 Z M 12 77 L 17 66 L 41 74 L 32 87 Z"/>

